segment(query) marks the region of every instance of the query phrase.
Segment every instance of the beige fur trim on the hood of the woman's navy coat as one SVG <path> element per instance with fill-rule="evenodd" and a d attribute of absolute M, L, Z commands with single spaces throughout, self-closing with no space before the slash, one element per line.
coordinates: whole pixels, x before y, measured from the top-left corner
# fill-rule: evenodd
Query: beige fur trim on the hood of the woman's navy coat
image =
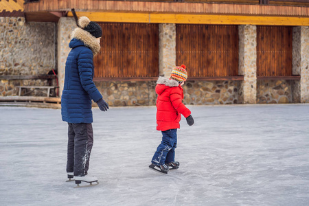
<path fill-rule="evenodd" d="M 93 52 L 93 56 L 99 54 L 101 49 L 100 43 L 98 43 L 97 39 L 89 32 L 77 27 L 75 30 L 73 30 L 71 37 L 77 38 L 78 40 L 82 41 L 86 47 L 89 47 Z"/>

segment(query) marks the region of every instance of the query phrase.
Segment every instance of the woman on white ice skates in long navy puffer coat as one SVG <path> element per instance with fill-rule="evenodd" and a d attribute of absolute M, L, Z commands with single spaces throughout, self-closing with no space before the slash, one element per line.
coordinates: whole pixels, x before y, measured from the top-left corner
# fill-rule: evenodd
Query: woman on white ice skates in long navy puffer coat
<path fill-rule="evenodd" d="M 87 176 L 89 157 L 93 146 L 91 100 L 101 111 L 108 110 L 100 91 L 93 83 L 93 56 L 100 52 L 102 28 L 86 16 L 78 20 L 78 25 L 69 43 L 71 52 L 65 64 L 65 86 L 61 97 L 62 120 L 69 125 L 67 146 L 67 175 L 76 184 L 98 181 Z"/>

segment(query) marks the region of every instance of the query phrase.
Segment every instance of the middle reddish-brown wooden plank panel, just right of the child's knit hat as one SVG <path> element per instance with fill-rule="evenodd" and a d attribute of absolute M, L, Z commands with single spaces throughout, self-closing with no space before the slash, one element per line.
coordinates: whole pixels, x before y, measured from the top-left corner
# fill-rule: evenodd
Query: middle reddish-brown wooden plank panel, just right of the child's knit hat
<path fill-rule="evenodd" d="M 238 26 L 176 25 L 176 65 L 188 76 L 238 76 Z"/>

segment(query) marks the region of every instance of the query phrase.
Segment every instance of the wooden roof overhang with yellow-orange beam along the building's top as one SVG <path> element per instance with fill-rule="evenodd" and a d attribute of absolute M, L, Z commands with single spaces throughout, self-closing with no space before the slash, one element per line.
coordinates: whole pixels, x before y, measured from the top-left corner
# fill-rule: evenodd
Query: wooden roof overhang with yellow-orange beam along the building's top
<path fill-rule="evenodd" d="M 26 3 L 25 16 L 27 21 L 48 21 L 52 15 L 57 21 L 60 16 L 73 16 L 72 8 L 78 16 L 98 22 L 309 25 L 306 6 L 227 3 L 41 0 Z"/>

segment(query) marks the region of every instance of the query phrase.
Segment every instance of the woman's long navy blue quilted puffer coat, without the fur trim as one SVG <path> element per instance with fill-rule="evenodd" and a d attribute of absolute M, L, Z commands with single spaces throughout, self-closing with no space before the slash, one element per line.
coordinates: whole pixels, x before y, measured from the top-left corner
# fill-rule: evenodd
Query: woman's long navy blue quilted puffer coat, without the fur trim
<path fill-rule="evenodd" d="M 69 43 L 71 52 L 65 64 L 61 115 L 62 120 L 69 123 L 93 122 L 91 100 L 98 102 L 102 98 L 100 91 L 93 83 L 93 48 L 84 43 L 87 41 L 82 41 L 83 38 L 71 40 Z"/>

